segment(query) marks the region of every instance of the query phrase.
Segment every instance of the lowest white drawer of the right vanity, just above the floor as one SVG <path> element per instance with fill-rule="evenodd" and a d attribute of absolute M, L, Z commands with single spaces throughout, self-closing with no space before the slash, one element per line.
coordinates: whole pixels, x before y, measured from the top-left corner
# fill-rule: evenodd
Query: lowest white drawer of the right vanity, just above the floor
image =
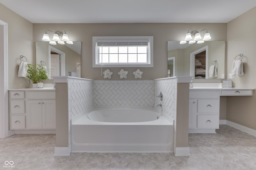
<path fill-rule="evenodd" d="M 197 128 L 219 129 L 219 115 L 197 115 Z"/>

